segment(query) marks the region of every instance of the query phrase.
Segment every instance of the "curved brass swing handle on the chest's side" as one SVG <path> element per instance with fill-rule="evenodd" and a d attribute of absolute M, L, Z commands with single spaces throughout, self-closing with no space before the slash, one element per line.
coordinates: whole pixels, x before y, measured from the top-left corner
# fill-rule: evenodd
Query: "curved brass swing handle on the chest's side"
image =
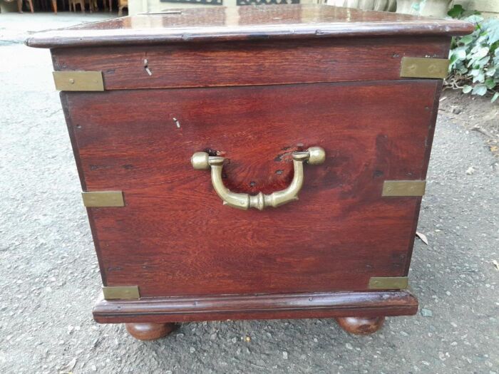
<path fill-rule="evenodd" d="M 291 184 L 281 191 L 272 194 L 259 192 L 256 195 L 231 192 L 222 181 L 224 157 L 210 156 L 207 152 L 195 152 L 190 162 L 195 170 L 208 170 L 211 167 L 212 185 L 215 192 L 222 199 L 224 205 L 238 209 L 256 208 L 263 210 L 266 207 L 279 207 L 287 202 L 298 199 L 298 193 L 303 185 L 303 163 L 319 165 L 326 160 L 326 152 L 321 147 L 310 147 L 304 152 L 293 152 L 294 177 Z"/>

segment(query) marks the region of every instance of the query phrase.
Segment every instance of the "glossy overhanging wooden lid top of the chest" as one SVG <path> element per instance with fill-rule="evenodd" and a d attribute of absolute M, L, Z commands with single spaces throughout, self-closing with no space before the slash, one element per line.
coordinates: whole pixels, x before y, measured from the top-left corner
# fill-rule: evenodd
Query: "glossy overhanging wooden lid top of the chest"
<path fill-rule="evenodd" d="M 37 33 L 26 44 L 55 48 L 346 36 L 456 36 L 474 26 L 389 12 L 326 5 L 238 6 L 181 9 Z"/>

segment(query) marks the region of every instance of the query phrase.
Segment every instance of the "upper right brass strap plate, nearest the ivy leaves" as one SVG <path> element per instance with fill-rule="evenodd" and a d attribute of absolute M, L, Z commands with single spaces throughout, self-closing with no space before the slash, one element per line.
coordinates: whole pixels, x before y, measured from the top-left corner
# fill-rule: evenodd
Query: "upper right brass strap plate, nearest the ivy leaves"
<path fill-rule="evenodd" d="M 447 77 L 449 63 L 447 58 L 403 57 L 400 76 L 444 79 Z"/>

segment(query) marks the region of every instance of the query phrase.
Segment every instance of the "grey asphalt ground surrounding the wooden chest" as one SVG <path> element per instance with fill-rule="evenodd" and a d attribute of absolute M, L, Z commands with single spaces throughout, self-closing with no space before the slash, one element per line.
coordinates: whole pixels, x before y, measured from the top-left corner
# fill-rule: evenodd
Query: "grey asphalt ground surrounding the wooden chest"
<path fill-rule="evenodd" d="M 497 104 L 444 94 L 418 225 L 429 244 L 416 240 L 410 273 L 416 316 L 372 336 L 328 319 L 185 323 L 142 343 L 92 320 L 101 279 L 81 187 L 49 53 L 12 42 L 24 16 L 36 24 L 0 14 L 1 34 L 17 35 L 0 46 L 0 373 L 499 373 L 496 135 L 466 114 L 480 104 L 499 125 Z"/>

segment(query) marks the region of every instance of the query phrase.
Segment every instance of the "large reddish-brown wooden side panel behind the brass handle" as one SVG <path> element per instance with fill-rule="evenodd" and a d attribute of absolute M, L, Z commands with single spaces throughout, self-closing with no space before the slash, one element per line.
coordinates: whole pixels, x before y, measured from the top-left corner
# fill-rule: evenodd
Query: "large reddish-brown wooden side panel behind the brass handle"
<path fill-rule="evenodd" d="M 436 80 L 64 93 L 86 189 L 125 207 L 88 209 L 106 286 L 141 296 L 362 291 L 405 276 L 421 198 L 381 197 L 422 180 Z M 351 110 L 356 103 L 356 110 Z M 173 118 L 180 123 L 177 127 Z M 222 152 L 225 184 L 271 193 L 291 152 L 319 145 L 297 202 L 223 207 L 192 153 Z"/>

